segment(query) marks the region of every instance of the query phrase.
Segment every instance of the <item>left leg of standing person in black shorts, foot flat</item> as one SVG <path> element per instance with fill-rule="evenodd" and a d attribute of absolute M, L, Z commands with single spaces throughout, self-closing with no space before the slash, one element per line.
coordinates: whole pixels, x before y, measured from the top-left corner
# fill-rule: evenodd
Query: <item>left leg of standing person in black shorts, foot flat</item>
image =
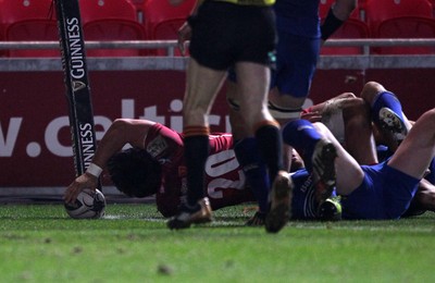
<path fill-rule="evenodd" d="M 170 229 L 211 221 L 210 202 L 204 198 L 204 167 L 210 150 L 208 118 L 225 74 L 200 65 L 194 58 L 189 60 L 183 116 L 187 201 L 181 213 L 167 222 Z"/>

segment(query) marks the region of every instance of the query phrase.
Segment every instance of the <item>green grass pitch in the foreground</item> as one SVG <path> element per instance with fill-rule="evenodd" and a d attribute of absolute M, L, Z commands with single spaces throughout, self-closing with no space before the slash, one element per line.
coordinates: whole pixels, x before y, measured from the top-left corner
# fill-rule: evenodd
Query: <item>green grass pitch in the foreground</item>
<path fill-rule="evenodd" d="M 1 282 L 434 282 L 435 214 L 247 227 L 244 206 L 170 231 L 154 205 L 0 206 Z"/>

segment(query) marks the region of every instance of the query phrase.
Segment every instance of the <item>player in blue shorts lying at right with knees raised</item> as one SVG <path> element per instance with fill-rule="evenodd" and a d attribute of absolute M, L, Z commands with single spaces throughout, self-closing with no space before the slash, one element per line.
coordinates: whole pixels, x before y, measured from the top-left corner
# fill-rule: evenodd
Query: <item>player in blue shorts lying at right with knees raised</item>
<path fill-rule="evenodd" d="M 415 122 L 388 160 L 375 165 L 360 165 L 321 123 L 290 122 L 283 137 L 302 157 L 312 156 L 319 140 L 334 145 L 338 156 L 336 190 L 341 196 L 344 219 L 399 219 L 435 155 L 435 109 Z"/>

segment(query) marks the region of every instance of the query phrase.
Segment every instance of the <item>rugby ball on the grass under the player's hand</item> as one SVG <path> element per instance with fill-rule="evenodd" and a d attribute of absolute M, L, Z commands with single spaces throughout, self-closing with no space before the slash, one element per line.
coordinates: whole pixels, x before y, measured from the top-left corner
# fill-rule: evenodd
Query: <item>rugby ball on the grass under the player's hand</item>
<path fill-rule="evenodd" d="M 104 216 L 104 195 L 90 188 L 82 190 L 74 204 L 65 204 L 66 213 L 74 219 L 98 219 Z"/>

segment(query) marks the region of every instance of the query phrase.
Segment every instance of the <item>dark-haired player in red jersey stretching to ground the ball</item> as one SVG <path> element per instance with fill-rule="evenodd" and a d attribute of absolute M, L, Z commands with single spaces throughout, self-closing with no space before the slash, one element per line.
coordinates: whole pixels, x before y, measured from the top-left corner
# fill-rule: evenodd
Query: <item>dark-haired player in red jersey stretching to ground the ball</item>
<path fill-rule="evenodd" d="M 132 197 L 156 194 L 158 210 L 164 217 L 176 214 L 186 198 L 186 167 L 183 160 L 183 135 L 151 121 L 117 119 L 98 145 L 92 163 L 109 168 L 116 187 Z M 125 145 L 133 148 L 122 150 Z M 228 134 L 210 136 L 211 153 L 207 160 L 207 196 L 212 209 L 234 206 L 256 198 L 246 184 Z M 65 201 L 73 202 L 84 188 L 96 188 L 97 176 L 86 172 L 76 177 L 65 192 Z M 294 190 L 293 216 L 297 219 L 319 219 L 321 204 L 313 197 L 312 187 L 298 181 L 308 179 L 307 171 L 293 176 L 300 186 Z M 300 189 L 299 189 L 300 188 Z M 298 202 L 298 204 L 296 204 Z M 328 207 L 326 207 L 328 208 Z M 323 209 L 324 210 L 324 209 Z M 337 218 L 338 216 L 334 216 Z M 263 224 L 256 222 L 251 224 Z"/>

